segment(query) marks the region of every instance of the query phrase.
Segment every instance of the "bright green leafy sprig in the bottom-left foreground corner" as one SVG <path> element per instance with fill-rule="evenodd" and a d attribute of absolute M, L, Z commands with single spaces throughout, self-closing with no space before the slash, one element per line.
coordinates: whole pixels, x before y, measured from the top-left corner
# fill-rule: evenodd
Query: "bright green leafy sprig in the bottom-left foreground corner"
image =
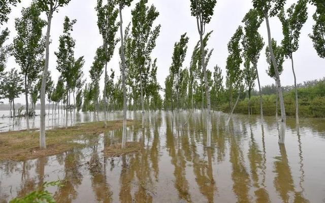
<path fill-rule="evenodd" d="M 55 200 L 52 194 L 45 190 L 45 188 L 49 186 L 57 186 L 62 187 L 61 181 L 53 181 L 53 182 L 45 182 L 42 185 L 41 190 L 37 190 L 25 195 L 22 198 L 14 198 L 10 201 L 10 203 L 39 203 L 39 202 L 46 202 L 46 203 L 55 203 Z"/>

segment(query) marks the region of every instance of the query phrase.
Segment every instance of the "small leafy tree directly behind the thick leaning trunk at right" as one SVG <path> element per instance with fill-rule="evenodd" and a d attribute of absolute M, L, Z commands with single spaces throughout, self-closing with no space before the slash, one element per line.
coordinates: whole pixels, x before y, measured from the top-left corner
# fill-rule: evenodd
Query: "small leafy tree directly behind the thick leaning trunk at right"
<path fill-rule="evenodd" d="M 272 50 L 275 56 L 275 61 L 278 67 L 278 73 L 279 75 L 281 75 L 282 71 L 283 71 L 283 61 L 284 61 L 284 54 L 283 54 L 283 49 L 281 46 L 277 46 L 277 43 L 274 39 L 272 39 Z M 276 81 L 276 75 L 275 75 L 275 71 L 274 71 L 274 67 L 273 67 L 273 63 L 271 60 L 271 53 L 270 53 L 270 49 L 269 46 L 266 47 L 265 50 L 265 55 L 266 55 L 266 60 L 269 64 L 269 69 L 267 70 L 267 74 L 273 78 Z M 275 84 L 276 85 L 276 84 Z M 276 85 L 276 87 L 278 87 Z M 278 115 L 278 95 L 279 95 L 279 89 L 277 88 L 277 98 L 276 98 L 276 117 Z"/>

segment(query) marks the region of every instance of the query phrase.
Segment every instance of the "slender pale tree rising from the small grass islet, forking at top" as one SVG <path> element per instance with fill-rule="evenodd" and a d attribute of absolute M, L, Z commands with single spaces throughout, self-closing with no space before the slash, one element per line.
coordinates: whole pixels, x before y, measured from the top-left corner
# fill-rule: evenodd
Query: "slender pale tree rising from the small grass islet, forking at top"
<path fill-rule="evenodd" d="M 126 143 L 126 86 L 125 86 L 125 55 L 124 55 L 124 38 L 123 38 L 123 18 L 122 10 L 125 6 L 131 6 L 133 0 L 116 0 L 118 5 L 119 14 L 120 14 L 120 35 L 121 35 L 121 48 L 120 48 L 120 57 L 121 57 L 121 75 L 122 75 L 122 89 L 123 89 L 123 131 L 122 131 L 122 145 L 121 148 L 125 148 Z"/>

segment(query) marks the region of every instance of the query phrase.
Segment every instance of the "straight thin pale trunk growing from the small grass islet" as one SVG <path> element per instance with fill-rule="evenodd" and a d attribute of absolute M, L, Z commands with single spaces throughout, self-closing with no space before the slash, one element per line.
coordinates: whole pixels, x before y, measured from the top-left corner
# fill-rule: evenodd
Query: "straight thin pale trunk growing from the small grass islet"
<path fill-rule="evenodd" d="M 125 87 L 125 57 L 124 57 L 124 42 L 123 42 L 123 27 L 122 27 L 122 5 L 119 7 L 120 13 L 120 33 L 121 33 L 121 58 L 122 58 L 122 88 L 123 88 L 123 131 L 122 131 L 122 149 L 126 143 L 126 87 Z M 143 114 L 142 114 L 143 116 Z"/>

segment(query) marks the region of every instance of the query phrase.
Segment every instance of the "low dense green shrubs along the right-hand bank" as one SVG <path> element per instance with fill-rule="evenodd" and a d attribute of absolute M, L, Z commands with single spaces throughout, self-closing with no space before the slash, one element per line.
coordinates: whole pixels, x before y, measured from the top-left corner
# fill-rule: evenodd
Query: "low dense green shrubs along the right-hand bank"
<path fill-rule="evenodd" d="M 302 117 L 325 117 L 325 78 L 298 84 L 299 110 Z M 264 115 L 273 116 L 276 111 L 276 87 L 262 87 Z M 257 91 L 252 91 L 252 114 L 259 114 L 259 97 Z M 284 104 L 287 116 L 295 116 L 295 89 L 293 86 L 283 87 Z M 221 106 L 223 112 L 229 111 L 229 104 Z M 278 109 L 279 111 L 280 109 Z M 235 113 L 248 114 L 248 98 L 244 97 L 238 103 Z M 280 112 L 278 112 L 280 113 Z"/>

